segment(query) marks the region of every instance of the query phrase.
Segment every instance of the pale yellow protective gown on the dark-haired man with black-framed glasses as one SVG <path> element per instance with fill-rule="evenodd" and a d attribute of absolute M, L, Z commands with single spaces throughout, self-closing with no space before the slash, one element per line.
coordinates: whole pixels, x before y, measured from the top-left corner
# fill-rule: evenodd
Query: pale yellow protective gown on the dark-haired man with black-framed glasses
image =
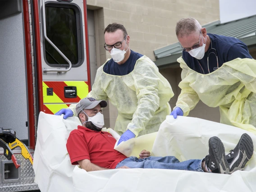
<path fill-rule="evenodd" d="M 103 67 L 97 70 L 95 82 L 87 97 L 109 99 L 117 108 L 114 130 L 122 134 L 129 129 L 136 136 L 158 131 L 166 115 L 170 114 L 168 102 L 174 93 L 153 61 L 142 56 L 133 71 L 123 76 L 107 74 Z M 75 105 L 69 108 L 76 115 Z"/>

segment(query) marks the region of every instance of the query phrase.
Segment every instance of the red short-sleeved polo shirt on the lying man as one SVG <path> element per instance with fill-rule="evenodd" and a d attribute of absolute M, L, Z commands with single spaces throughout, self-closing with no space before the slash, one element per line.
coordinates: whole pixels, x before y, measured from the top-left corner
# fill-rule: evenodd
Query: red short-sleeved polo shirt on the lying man
<path fill-rule="evenodd" d="M 127 158 L 119 151 L 114 150 L 116 140 L 110 133 L 93 131 L 78 125 L 67 141 L 72 165 L 78 165 L 78 160 L 90 160 L 100 167 L 114 169 L 116 165 Z"/>

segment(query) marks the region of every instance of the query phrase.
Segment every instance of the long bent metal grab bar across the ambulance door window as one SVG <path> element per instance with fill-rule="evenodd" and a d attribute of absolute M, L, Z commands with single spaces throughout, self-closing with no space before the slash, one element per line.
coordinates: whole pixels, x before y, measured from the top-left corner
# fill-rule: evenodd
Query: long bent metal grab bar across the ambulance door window
<path fill-rule="evenodd" d="M 47 73 L 47 72 L 68 72 L 71 67 L 71 61 L 59 50 L 59 48 L 57 46 L 54 45 L 54 43 L 52 41 L 50 41 L 50 39 L 47 37 L 46 35 L 46 8 L 45 8 L 45 0 L 42 0 L 42 7 L 43 7 L 43 22 L 44 22 L 44 37 L 45 39 L 50 43 L 51 46 L 53 46 L 55 48 L 55 50 L 69 63 L 69 68 L 68 69 L 44 69 L 43 72 Z"/>

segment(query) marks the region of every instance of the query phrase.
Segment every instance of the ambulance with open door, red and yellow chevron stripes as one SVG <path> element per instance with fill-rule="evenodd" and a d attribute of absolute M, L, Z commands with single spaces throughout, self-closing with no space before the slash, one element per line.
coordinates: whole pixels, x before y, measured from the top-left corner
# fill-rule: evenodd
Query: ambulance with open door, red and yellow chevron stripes
<path fill-rule="evenodd" d="M 35 191 L 40 111 L 91 90 L 86 0 L 0 0 L 0 192 Z"/>

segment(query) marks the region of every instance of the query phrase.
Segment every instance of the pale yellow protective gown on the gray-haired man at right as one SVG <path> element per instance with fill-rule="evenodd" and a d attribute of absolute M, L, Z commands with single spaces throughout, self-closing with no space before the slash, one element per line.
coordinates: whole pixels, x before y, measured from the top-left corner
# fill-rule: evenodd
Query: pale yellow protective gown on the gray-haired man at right
<path fill-rule="evenodd" d="M 209 107 L 219 106 L 220 123 L 256 134 L 256 60 L 234 59 L 209 74 L 190 69 L 178 58 L 182 89 L 176 107 L 187 116 L 201 100 Z"/>

